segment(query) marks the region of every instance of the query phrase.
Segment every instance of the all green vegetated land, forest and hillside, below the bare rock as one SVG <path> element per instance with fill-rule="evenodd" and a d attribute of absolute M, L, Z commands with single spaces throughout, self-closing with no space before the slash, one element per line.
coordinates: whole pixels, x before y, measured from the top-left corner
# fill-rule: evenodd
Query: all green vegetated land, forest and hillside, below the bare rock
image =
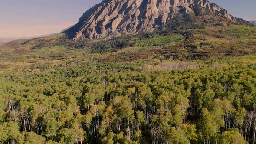
<path fill-rule="evenodd" d="M 0 144 L 255 144 L 256 27 L 195 12 L 0 46 Z"/>

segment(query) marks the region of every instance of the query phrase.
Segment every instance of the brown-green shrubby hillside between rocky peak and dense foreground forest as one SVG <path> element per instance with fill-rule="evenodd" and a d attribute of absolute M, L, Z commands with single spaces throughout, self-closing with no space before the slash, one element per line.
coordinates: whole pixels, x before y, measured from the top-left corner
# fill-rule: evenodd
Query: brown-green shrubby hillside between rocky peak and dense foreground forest
<path fill-rule="evenodd" d="M 84 65 L 88 62 L 244 56 L 256 52 L 255 33 L 255 26 L 213 26 L 181 33 L 140 33 L 98 41 L 72 41 L 65 34 L 20 39 L 0 46 L 0 60 L 5 62 L 0 68 L 16 71 L 19 67 L 19 70 L 27 71 L 30 65 L 37 70 L 45 69 L 40 66 L 42 62 L 63 67 L 63 62 Z"/>

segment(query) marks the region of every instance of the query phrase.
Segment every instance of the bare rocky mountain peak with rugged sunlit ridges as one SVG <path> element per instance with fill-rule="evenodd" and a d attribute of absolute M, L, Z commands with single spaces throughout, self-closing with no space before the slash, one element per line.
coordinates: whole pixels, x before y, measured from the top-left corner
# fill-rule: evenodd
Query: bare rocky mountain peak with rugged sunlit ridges
<path fill-rule="evenodd" d="M 102 39 L 106 36 L 120 36 L 128 33 L 154 31 L 163 28 L 171 19 L 179 14 L 198 13 L 197 6 L 207 9 L 218 17 L 214 23 L 246 24 L 249 22 L 235 18 L 227 10 L 207 0 L 103 0 L 87 10 L 79 22 L 65 33 L 70 39 Z M 200 20 L 209 23 L 213 16 L 201 14 Z M 202 18 L 202 16 L 204 16 Z M 181 16 L 182 17 L 182 16 Z M 183 16 L 184 17 L 184 16 Z M 214 24 L 210 23 L 210 24 Z"/>

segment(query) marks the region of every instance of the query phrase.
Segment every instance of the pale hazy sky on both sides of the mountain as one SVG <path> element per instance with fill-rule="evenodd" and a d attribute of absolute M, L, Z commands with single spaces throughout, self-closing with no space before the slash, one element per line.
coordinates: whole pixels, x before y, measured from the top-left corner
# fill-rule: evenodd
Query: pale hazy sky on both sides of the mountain
<path fill-rule="evenodd" d="M 102 0 L 0 0 L 0 37 L 59 33 Z M 209 0 L 235 17 L 256 20 L 256 0 Z"/>

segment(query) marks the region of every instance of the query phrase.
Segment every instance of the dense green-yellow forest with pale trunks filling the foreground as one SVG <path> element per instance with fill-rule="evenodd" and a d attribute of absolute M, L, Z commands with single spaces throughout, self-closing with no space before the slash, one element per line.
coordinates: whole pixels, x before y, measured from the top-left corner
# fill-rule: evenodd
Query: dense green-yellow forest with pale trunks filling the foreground
<path fill-rule="evenodd" d="M 254 143 L 251 67 L 145 72 L 109 63 L 1 74 L 0 143 Z"/>

